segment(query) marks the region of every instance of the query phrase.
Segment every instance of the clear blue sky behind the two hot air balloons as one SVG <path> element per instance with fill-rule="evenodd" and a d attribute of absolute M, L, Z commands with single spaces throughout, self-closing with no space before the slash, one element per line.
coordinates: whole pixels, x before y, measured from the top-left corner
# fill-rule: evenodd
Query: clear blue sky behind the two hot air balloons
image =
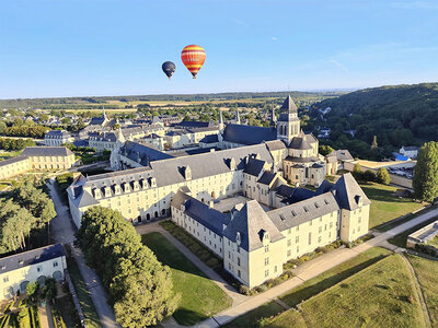
<path fill-rule="evenodd" d="M 436 0 L 2 0 L 0 98 L 434 82 L 437 32 Z"/>

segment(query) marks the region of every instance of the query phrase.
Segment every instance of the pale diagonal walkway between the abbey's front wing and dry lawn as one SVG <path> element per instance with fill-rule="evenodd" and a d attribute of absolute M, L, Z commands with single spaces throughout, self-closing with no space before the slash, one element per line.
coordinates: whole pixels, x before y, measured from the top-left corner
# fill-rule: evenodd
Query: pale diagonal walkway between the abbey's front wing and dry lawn
<path fill-rule="evenodd" d="M 298 267 L 295 270 L 295 273 L 297 277 L 293 277 L 292 279 L 285 281 L 284 283 L 272 288 L 270 290 L 252 296 L 252 297 L 246 297 L 245 301 L 233 305 L 232 307 L 229 307 L 221 313 L 217 314 L 212 318 L 206 319 L 203 323 L 199 323 L 195 325 L 195 327 L 201 327 L 201 328 L 211 328 L 211 327 L 219 327 L 221 325 L 228 324 L 235 319 L 237 317 L 258 307 L 262 306 L 263 304 L 275 301 L 278 296 L 283 295 L 287 291 L 297 288 L 298 285 L 302 284 L 304 281 L 310 280 L 321 273 L 323 273 L 326 270 L 330 270 L 342 262 L 349 260 L 357 256 L 360 253 L 366 251 L 367 249 L 370 249 L 376 246 L 381 246 L 381 247 L 388 247 L 390 246 L 392 250 L 397 251 L 400 248 L 396 246 L 393 246 L 388 243 L 388 239 L 393 237 L 394 235 L 397 235 L 406 230 L 410 230 L 414 227 L 415 225 L 423 223 L 434 216 L 438 215 L 438 209 L 434 209 L 431 211 L 428 211 L 422 215 L 418 215 L 412 220 L 410 220 L 406 223 L 403 223 L 390 231 L 387 231 L 384 233 L 379 234 L 378 236 L 373 237 L 372 239 L 360 244 L 354 248 L 338 248 L 335 250 L 332 250 L 327 254 L 324 254 L 309 262 L 306 262 Z"/>

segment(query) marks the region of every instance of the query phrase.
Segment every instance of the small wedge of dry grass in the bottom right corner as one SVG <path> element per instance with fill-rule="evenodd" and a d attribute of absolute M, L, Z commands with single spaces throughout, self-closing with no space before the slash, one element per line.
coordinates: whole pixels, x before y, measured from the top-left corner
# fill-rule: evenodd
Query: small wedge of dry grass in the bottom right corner
<path fill-rule="evenodd" d="M 422 286 L 433 327 L 438 327 L 438 261 L 407 255 Z"/>

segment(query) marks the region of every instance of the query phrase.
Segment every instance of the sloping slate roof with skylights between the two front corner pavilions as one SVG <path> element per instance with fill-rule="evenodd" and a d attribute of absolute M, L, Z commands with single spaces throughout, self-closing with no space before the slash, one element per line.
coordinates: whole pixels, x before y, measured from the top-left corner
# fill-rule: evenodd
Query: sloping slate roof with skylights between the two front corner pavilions
<path fill-rule="evenodd" d="M 267 212 L 279 231 L 300 225 L 339 209 L 332 192 L 326 192 Z"/>

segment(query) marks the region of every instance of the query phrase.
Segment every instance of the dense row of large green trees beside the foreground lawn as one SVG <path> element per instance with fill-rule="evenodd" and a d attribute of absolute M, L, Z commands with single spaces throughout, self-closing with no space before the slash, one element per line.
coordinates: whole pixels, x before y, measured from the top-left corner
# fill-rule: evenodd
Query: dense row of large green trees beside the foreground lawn
<path fill-rule="evenodd" d="M 118 211 L 89 209 L 77 237 L 88 265 L 102 279 L 122 327 L 155 325 L 176 309 L 180 296 L 172 292 L 169 267 L 141 244 Z"/>

